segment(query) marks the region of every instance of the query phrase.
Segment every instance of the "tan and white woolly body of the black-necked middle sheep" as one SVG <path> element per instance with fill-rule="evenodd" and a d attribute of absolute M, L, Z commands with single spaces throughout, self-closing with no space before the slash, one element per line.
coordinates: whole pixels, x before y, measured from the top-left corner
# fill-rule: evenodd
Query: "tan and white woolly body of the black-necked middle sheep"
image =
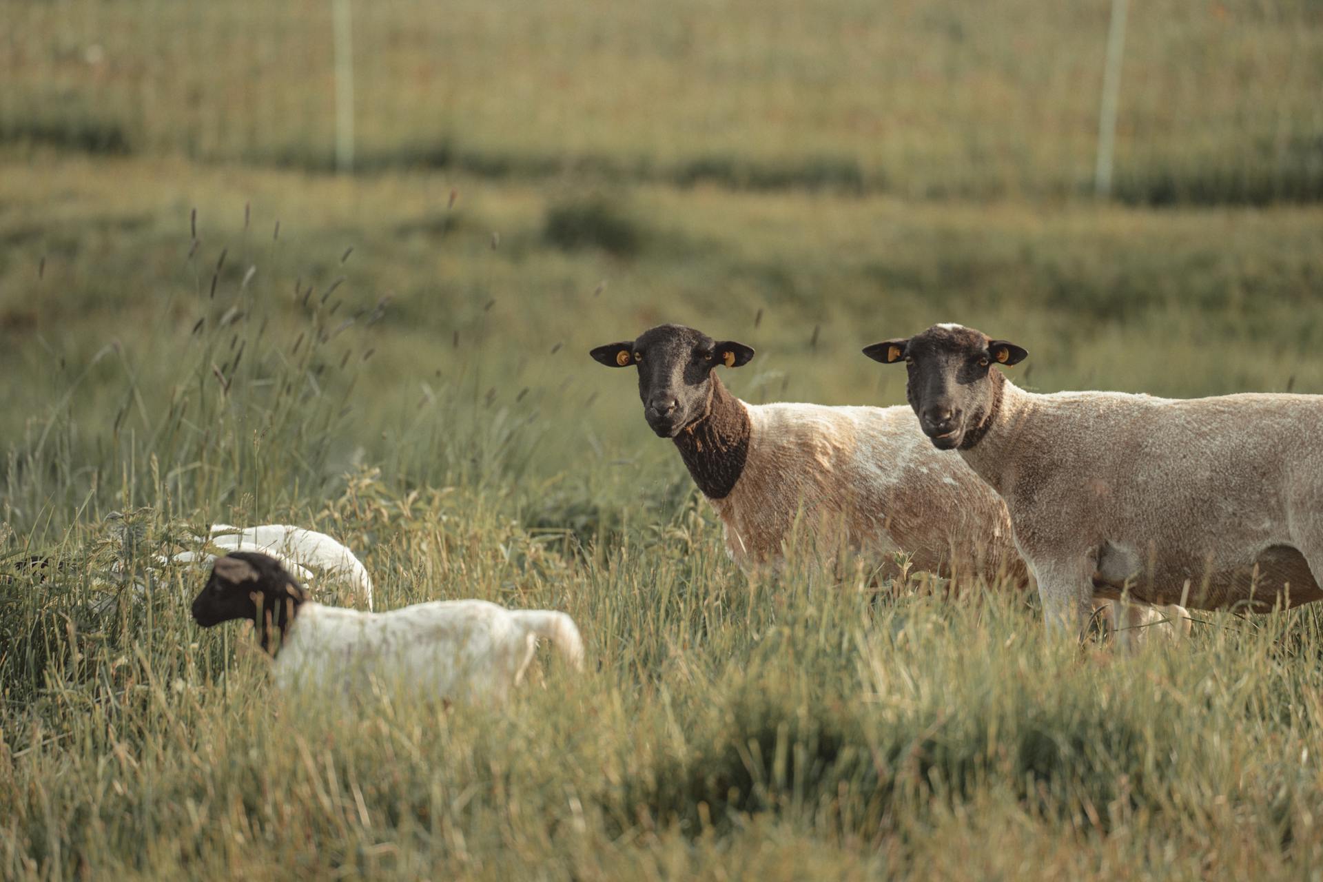
<path fill-rule="evenodd" d="M 840 547 L 916 569 L 971 565 L 1023 578 L 1002 500 L 957 456 L 943 456 L 909 407 L 749 405 L 744 471 L 710 500 L 742 569 L 778 565 L 792 533 L 823 554 Z"/>

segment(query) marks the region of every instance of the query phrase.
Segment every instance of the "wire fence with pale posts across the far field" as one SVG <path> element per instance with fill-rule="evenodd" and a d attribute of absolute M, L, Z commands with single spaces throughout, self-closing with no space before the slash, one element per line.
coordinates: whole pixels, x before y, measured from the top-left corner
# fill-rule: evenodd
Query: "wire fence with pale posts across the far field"
<path fill-rule="evenodd" d="M 1139 4 L 1099 114 L 1113 7 L 0 0 L 0 140 L 1000 196 L 1091 192 L 1110 112 L 1121 198 L 1323 198 L 1323 7 Z"/>

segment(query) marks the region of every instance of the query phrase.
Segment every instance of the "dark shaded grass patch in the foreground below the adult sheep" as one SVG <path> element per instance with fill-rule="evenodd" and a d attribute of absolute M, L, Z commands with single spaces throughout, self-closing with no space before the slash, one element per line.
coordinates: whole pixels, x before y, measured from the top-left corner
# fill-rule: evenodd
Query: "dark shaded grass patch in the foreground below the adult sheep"
<path fill-rule="evenodd" d="M 708 824 L 728 830 L 738 816 L 831 805 L 843 833 L 872 836 L 905 804 L 958 803 L 999 780 L 1031 811 L 1082 825 L 1106 829 L 1139 805 L 1160 811 L 1146 789 L 1138 721 L 1085 700 L 1070 707 L 1027 700 L 1020 710 L 1020 719 L 990 703 L 960 719 L 875 721 L 847 702 L 792 709 L 750 690 L 722 729 L 691 741 L 688 755 L 667 755 L 626 782 L 620 808 L 696 836 Z"/>

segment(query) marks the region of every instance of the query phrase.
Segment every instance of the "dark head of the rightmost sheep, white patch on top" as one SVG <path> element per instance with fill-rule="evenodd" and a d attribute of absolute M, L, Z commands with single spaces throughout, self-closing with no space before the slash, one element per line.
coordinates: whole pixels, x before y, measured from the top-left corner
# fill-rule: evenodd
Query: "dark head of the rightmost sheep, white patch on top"
<path fill-rule="evenodd" d="M 1013 365 L 1029 353 L 982 331 L 939 324 L 908 340 L 876 342 L 864 354 L 885 365 L 904 360 L 905 394 L 923 434 L 938 450 L 968 450 L 1002 398 L 1003 378 L 992 364 Z"/>

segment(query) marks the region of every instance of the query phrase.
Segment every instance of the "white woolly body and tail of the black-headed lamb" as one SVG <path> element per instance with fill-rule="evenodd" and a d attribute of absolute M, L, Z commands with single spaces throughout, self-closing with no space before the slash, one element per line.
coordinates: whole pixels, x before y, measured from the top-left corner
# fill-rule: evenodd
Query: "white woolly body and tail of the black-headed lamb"
<path fill-rule="evenodd" d="M 304 602 L 273 674 L 286 689 L 365 693 L 378 681 L 450 701 L 503 702 L 523 680 L 538 637 L 582 669 L 583 641 L 564 612 L 486 600 L 434 600 L 390 612 Z"/>

